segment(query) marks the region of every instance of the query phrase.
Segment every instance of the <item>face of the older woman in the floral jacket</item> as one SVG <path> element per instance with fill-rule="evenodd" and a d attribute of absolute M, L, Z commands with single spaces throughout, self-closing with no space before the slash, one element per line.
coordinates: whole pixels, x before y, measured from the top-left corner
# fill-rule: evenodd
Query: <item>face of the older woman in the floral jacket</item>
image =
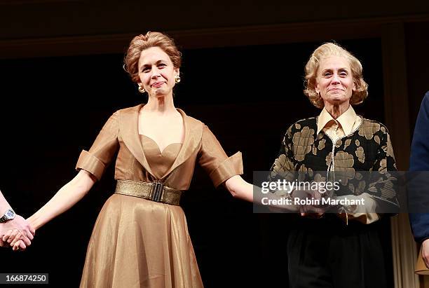
<path fill-rule="evenodd" d="M 315 91 L 320 92 L 325 106 L 350 102 L 353 90 L 350 63 L 345 57 L 329 56 L 320 61 Z"/>

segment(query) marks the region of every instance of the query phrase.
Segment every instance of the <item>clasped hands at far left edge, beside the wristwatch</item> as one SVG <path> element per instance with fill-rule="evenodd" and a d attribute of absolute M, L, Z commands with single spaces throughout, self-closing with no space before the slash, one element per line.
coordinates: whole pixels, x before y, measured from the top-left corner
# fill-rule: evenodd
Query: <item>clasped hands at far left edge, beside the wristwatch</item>
<path fill-rule="evenodd" d="M 0 224 L 0 247 L 12 247 L 13 251 L 25 250 L 32 244 L 36 231 L 27 220 L 20 215 Z"/>

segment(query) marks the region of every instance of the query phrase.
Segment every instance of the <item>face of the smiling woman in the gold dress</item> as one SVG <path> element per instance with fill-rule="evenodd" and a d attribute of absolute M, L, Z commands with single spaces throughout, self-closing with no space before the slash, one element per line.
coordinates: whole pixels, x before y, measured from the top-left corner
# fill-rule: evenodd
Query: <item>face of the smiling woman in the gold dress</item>
<path fill-rule="evenodd" d="M 149 96 L 161 97 L 172 95 L 175 76 L 179 69 L 172 64 L 170 57 L 159 47 L 142 51 L 139 59 L 139 78 Z"/>

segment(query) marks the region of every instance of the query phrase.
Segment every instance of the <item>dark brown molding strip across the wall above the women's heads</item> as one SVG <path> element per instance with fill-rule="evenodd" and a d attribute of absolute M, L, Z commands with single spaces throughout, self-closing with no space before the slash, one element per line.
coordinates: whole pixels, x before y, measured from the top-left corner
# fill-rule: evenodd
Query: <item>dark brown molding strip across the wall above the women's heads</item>
<path fill-rule="evenodd" d="M 285 23 L 212 29 L 170 30 L 181 48 L 215 48 L 381 37 L 395 22 L 429 21 L 429 15 Z M 353 33 L 350 33 L 353 31 Z M 37 39 L 1 39 L 0 59 L 124 53 L 133 36 L 142 33 L 69 35 Z"/>

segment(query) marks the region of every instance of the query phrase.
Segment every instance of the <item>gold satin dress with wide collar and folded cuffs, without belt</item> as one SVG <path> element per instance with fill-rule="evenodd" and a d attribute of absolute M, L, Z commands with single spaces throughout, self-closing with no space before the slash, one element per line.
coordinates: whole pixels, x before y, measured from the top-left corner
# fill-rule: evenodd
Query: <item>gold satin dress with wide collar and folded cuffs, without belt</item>
<path fill-rule="evenodd" d="M 243 173 L 240 152 L 228 158 L 207 126 L 179 109 L 184 143 L 160 151 L 138 134 L 141 108 L 116 111 L 91 149 L 82 151 L 76 169 L 100 179 L 118 151 L 115 179 L 161 180 L 186 190 L 196 161 L 214 186 Z M 203 287 L 182 207 L 113 194 L 95 222 L 80 287 Z"/>

